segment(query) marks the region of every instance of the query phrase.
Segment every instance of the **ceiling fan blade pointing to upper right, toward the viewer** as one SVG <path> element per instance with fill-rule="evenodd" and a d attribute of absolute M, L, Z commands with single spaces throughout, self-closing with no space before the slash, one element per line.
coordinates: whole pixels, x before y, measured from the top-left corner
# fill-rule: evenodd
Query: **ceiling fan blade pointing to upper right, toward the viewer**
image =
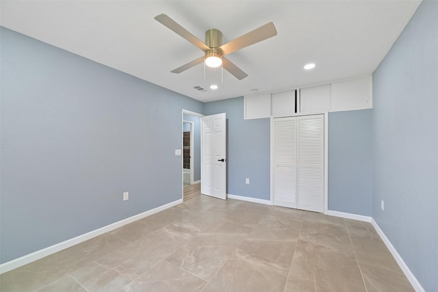
<path fill-rule="evenodd" d="M 274 23 L 266 23 L 266 25 L 262 25 L 258 29 L 248 32 L 248 34 L 235 38 L 231 40 L 231 42 L 227 42 L 227 44 L 222 44 L 219 49 L 224 55 L 228 55 L 244 47 L 248 47 L 251 44 L 272 38 L 273 36 L 276 36 Z"/>

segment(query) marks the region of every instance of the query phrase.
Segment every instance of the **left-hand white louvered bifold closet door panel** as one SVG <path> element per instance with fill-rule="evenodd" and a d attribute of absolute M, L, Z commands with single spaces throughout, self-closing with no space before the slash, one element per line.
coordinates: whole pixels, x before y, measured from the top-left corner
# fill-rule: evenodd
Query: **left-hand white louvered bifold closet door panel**
<path fill-rule="evenodd" d="M 296 118 L 274 119 L 274 204 L 296 208 Z"/>

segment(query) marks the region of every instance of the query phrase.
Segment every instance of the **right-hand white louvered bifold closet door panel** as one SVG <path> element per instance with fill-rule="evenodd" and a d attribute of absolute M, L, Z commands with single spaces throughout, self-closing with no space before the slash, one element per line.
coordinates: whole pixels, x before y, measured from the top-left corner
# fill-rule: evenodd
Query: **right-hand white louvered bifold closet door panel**
<path fill-rule="evenodd" d="M 298 121 L 297 208 L 324 212 L 324 115 Z"/>

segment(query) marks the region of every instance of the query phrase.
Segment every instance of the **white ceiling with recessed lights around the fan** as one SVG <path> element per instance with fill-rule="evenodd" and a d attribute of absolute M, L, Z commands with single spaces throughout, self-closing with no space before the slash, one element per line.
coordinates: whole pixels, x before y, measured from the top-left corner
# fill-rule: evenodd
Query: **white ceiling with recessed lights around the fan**
<path fill-rule="evenodd" d="M 0 23 L 43 42 L 199 101 L 276 92 L 372 73 L 420 1 L 1 1 Z M 196 37 L 220 29 L 223 43 L 270 21 L 277 36 L 227 55 L 249 76 L 223 72 L 210 90 L 204 66 L 171 73 L 203 56 L 154 20 L 168 14 Z M 316 68 L 303 70 L 314 62 Z M 207 73 L 211 71 L 207 70 Z M 217 82 L 216 82 L 217 83 Z M 199 85 L 206 90 L 198 92 Z"/>

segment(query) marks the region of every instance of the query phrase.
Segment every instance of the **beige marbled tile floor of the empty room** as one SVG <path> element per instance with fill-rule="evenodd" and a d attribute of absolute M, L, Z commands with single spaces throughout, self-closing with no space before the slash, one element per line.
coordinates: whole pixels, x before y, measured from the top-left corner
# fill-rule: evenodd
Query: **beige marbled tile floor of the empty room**
<path fill-rule="evenodd" d="M 371 224 L 198 196 L 9 271 L 0 291 L 413 291 Z"/>

